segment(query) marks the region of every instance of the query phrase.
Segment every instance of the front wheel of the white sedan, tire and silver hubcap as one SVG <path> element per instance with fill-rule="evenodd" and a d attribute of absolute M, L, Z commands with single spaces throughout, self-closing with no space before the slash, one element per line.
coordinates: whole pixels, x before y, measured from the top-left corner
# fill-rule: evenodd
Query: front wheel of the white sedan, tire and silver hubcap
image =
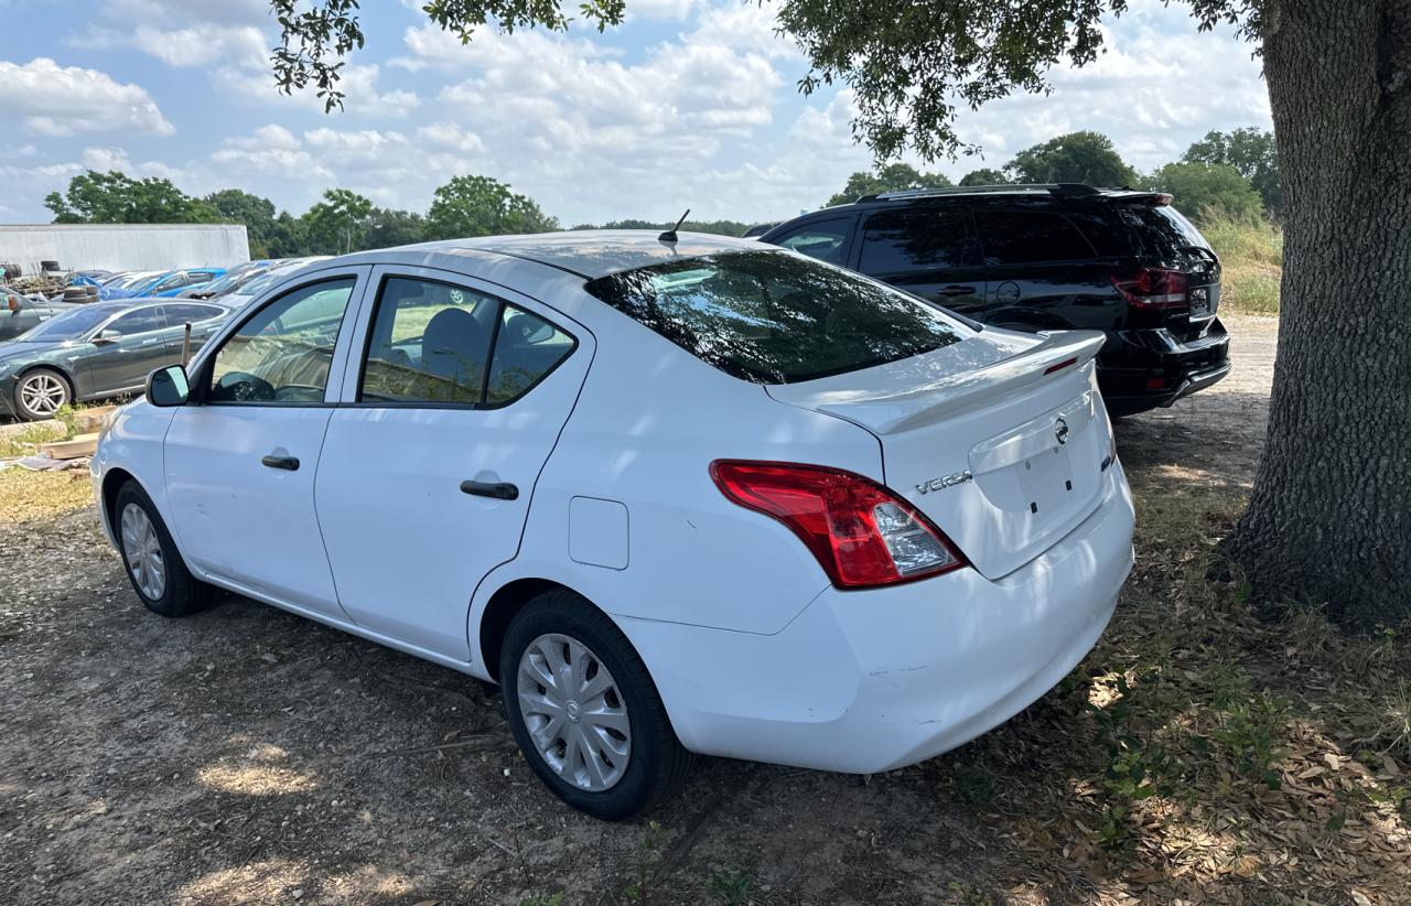
<path fill-rule="evenodd" d="M 117 491 L 113 533 L 117 535 L 127 577 L 147 610 L 162 617 L 185 617 L 206 604 L 210 586 L 186 569 L 166 524 L 135 481 Z"/>

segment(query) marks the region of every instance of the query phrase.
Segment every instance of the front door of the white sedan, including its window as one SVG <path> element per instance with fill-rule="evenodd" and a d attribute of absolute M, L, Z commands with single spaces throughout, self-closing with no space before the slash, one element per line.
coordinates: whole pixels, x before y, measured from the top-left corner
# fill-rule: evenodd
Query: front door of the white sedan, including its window
<path fill-rule="evenodd" d="M 257 597 L 346 620 L 313 509 L 319 450 L 368 267 L 322 271 L 246 313 L 192 374 L 165 442 L 182 550 Z M 330 380 L 330 375 L 333 380 Z"/>

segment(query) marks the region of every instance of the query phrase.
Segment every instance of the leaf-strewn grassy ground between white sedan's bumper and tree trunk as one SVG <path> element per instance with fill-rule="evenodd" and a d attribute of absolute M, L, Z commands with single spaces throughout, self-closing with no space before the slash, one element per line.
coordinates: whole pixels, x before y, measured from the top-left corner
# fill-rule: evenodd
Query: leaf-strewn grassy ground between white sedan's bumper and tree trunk
<path fill-rule="evenodd" d="M 1218 540 L 1243 493 L 1140 471 L 1133 490 L 1137 566 L 1099 646 L 924 769 L 1037 862 L 1062 848 L 1153 902 L 1243 902 L 1239 885 L 1249 902 L 1394 902 L 1411 858 L 1411 632 L 1346 635 L 1298 607 L 1261 618 L 1237 574 L 1209 579 L 1230 572 Z"/>

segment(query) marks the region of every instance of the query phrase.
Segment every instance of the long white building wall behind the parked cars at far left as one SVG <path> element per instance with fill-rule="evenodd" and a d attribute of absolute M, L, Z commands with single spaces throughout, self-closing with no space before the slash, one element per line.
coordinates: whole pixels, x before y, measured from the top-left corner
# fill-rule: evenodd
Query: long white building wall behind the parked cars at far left
<path fill-rule="evenodd" d="M 0 264 L 37 274 L 41 261 L 65 271 L 165 271 L 231 267 L 250 260 L 244 224 L 55 223 L 0 226 Z"/>

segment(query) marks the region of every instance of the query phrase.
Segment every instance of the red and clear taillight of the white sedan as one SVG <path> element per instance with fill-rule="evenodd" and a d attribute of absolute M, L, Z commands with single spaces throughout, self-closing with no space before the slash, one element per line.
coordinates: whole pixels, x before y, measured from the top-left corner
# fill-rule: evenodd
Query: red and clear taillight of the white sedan
<path fill-rule="evenodd" d="M 965 566 L 931 521 L 876 481 L 841 469 L 715 460 L 729 500 L 779 519 L 840 588 L 912 581 Z"/>

